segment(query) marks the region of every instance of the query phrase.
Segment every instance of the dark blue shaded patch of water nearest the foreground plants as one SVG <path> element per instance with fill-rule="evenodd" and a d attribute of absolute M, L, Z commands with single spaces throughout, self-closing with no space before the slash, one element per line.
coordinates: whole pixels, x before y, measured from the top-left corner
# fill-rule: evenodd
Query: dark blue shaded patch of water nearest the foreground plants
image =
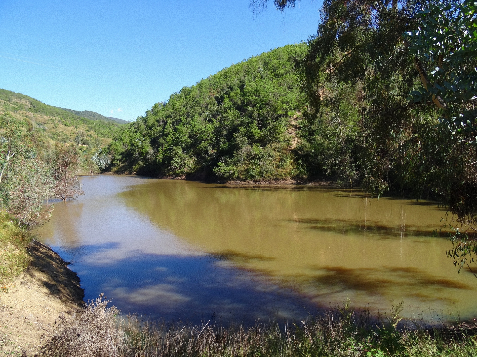
<path fill-rule="evenodd" d="M 305 313 L 292 291 L 260 282 L 251 273 L 219 268 L 210 257 L 145 254 L 81 274 L 84 286 L 108 292 L 124 312 L 190 321 L 283 319 Z"/>

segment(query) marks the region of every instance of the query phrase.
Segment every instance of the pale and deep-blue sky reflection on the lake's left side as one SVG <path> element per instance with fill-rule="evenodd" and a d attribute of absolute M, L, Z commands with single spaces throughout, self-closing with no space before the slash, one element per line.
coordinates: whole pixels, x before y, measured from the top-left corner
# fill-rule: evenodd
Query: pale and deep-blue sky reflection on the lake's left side
<path fill-rule="evenodd" d="M 305 306 L 313 310 L 309 300 L 261 274 L 221 267 L 219 258 L 191 250 L 117 196 L 151 181 L 83 178 L 86 195 L 58 203 L 37 231 L 62 258 L 73 259 L 86 299 L 104 292 L 124 313 L 195 322 L 211 314 L 252 322 L 302 318 Z"/>

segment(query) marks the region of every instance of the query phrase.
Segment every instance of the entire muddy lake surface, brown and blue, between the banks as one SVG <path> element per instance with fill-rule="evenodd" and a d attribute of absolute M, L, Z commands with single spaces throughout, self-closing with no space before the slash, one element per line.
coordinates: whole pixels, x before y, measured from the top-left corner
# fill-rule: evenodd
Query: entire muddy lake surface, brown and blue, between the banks
<path fill-rule="evenodd" d="M 57 202 L 41 240 L 72 260 L 86 299 L 124 313 L 190 321 L 299 319 L 346 298 L 407 317 L 472 318 L 477 279 L 457 274 L 433 237 L 432 202 L 359 190 L 227 187 L 84 177 Z M 420 314 L 420 315 L 419 315 Z"/>

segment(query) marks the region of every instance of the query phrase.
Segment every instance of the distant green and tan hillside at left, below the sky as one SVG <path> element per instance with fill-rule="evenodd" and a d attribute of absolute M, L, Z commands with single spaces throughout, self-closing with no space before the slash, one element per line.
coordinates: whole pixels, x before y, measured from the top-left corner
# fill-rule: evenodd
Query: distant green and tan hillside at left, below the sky
<path fill-rule="evenodd" d="M 105 119 L 81 117 L 76 115 L 74 110 L 53 107 L 24 94 L 0 89 L 0 115 L 6 112 L 10 112 L 17 119 L 26 119 L 33 123 L 53 141 L 76 140 L 92 147 L 106 145 L 120 125 L 95 112 L 90 113 Z"/>

